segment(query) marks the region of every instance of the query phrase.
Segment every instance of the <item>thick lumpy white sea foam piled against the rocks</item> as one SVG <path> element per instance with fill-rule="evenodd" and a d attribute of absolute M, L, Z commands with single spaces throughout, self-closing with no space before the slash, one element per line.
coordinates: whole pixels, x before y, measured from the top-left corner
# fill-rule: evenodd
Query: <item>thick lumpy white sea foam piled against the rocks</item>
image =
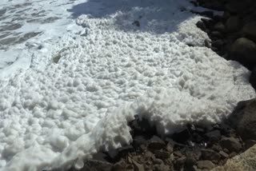
<path fill-rule="evenodd" d="M 81 168 L 98 150 L 130 143 L 135 114 L 173 133 L 221 121 L 255 97 L 250 72 L 204 47 L 200 18 L 182 6 L 193 8 L 185 0 L 91 0 L 74 7 L 87 13 L 78 25 L 31 39 L 42 48 L 23 50 L 27 69 L 0 82 L 1 170 Z"/>

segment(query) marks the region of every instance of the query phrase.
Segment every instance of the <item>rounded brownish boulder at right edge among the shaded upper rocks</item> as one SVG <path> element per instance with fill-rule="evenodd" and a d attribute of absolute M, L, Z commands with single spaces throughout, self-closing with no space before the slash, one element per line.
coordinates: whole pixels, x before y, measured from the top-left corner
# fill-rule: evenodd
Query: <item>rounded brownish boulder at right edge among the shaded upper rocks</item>
<path fill-rule="evenodd" d="M 247 38 L 238 38 L 230 48 L 231 59 L 242 63 L 256 63 L 256 44 Z"/>

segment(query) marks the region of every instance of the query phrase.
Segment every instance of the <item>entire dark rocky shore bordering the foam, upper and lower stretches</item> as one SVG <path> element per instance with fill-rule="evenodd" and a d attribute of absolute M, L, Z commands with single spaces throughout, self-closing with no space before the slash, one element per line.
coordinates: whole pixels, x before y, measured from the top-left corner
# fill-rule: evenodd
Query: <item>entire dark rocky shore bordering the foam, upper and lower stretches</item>
<path fill-rule="evenodd" d="M 222 58 L 240 62 L 252 71 L 250 83 L 256 89 L 256 2 L 198 0 L 193 3 L 224 11 L 222 16 L 211 11 L 200 13 L 205 17 L 197 26 L 211 39 L 211 42 L 206 42 L 207 47 Z M 186 125 L 186 129 L 166 137 L 158 135 L 146 120 L 136 118 L 130 122 L 133 136 L 130 145 L 96 153 L 80 170 L 254 170 L 255 123 L 255 99 L 239 102 L 222 123 L 208 127 Z M 246 158 L 251 161 L 246 162 Z"/>

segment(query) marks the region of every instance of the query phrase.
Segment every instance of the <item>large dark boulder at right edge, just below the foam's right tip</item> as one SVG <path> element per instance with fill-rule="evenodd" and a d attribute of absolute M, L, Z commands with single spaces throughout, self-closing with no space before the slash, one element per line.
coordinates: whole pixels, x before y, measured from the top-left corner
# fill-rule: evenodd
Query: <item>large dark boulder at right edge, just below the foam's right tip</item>
<path fill-rule="evenodd" d="M 242 139 L 256 140 L 256 99 L 238 102 L 228 121 Z"/>

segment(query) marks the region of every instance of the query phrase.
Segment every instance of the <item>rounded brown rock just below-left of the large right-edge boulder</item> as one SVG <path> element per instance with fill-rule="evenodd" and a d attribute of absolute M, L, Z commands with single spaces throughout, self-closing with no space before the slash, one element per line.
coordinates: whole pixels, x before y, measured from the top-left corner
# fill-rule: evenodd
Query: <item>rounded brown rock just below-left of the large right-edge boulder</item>
<path fill-rule="evenodd" d="M 228 149 L 230 152 L 239 152 L 242 149 L 242 145 L 234 137 L 223 137 L 219 144 L 222 149 Z"/>

